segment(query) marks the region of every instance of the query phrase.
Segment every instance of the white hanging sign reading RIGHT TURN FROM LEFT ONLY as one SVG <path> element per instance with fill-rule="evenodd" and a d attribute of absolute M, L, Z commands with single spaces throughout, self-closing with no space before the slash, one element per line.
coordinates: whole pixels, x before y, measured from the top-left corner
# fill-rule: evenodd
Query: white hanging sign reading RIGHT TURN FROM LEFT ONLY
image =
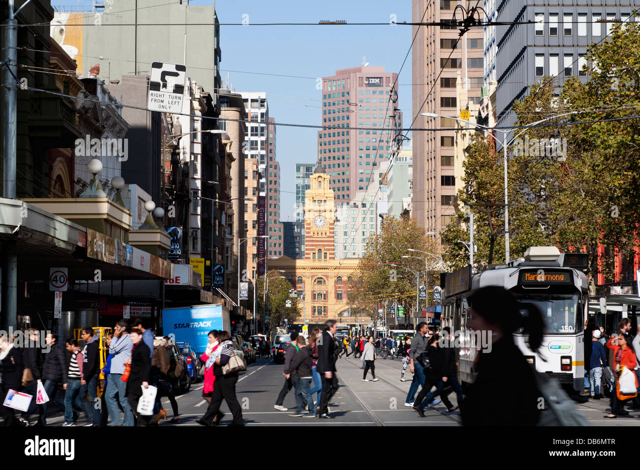
<path fill-rule="evenodd" d="M 147 109 L 161 113 L 182 113 L 187 68 L 166 62 L 151 64 Z"/>

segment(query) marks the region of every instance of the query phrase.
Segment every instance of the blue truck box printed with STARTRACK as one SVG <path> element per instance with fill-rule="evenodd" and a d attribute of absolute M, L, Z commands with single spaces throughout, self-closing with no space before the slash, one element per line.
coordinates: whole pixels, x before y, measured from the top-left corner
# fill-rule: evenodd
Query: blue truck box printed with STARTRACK
<path fill-rule="evenodd" d="M 221 304 L 164 308 L 163 332 L 176 343 L 189 343 L 196 354 L 202 354 L 209 343 L 209 331 L 231 332 L 229 311 Z"/>

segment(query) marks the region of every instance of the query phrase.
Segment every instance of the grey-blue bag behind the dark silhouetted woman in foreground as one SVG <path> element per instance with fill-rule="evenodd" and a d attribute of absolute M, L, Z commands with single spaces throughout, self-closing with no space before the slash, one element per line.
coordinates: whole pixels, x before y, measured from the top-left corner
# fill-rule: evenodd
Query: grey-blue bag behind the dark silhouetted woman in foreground
<path fill-rule="evenodd" d="M 534 371 L 536 386 L 544 401 L 540 418 L 536 426 L 588 426 L 587 420 L 573 404 L 573 400 L 564 392 L 556 380 L 548 379 L 540 372 Z"/>

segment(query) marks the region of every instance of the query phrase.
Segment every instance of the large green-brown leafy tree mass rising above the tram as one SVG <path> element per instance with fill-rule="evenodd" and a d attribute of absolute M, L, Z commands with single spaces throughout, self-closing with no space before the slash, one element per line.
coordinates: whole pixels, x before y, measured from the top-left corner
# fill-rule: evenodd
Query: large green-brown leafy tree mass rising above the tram
<path fill-rule="evenodd" d="M 588 48 L 585 59 L 596 66 L 586 70 L 586 83 L 572 77 L 557 98 L 556 79 L 545 77 L 513 106 L 516 125 L 579 113 L 531 127 L 520 136 L 522 141 L 509 146 L 509 241 L 512 259 L 536 245 L 589 253 L 591 293 L 595 294 L 593 275 L 609 275 L 613 267 L 598 260 L 619 254 L 626 262 L 637 245 L 640 120 L 625 118 L 637 114 L 640 25 L 616 27 L 611 40 Z M 604 121 L 620 118 L 623 120 Z M 563 125 L 567 121 L 579 124 Z M 548 147 L 534 145 L 538 143 L 535 139 L 558 139 L 566 151 L 549 155 Z M 461 202 L 504 202 L 504 157 L 494 149 L 493 142 L 479 133 L 472 139 L 463 164 L 464 187 L 458 193 Z M 488 217 L 477 208 L 472 210 L 476 262 L 483 265 L 488 262 Z M 457 243 L 468 240 L 463 227 L 467 222 L 459 213 L 442 233 L 445 259 L 454 267 L 461 267 L 468 258 L 466 249 Z M 494 230 L 504 226 L 502 210 L 492 214 L 492 222 Z M 504 233 L 497 240 L 494 262 L 504 261 L 503 247 Z"/>

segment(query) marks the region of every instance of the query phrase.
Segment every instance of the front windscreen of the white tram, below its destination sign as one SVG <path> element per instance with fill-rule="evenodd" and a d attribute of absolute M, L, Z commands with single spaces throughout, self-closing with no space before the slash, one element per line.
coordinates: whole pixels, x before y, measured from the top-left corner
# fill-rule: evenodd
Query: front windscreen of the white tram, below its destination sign
<path fill-rule="evenodd" d="M 545 333 L 575 334 L 582 331 L 582 316 L 577 294 L 550 294 L 519 297 L 536 305 L 545 320 Z"/>

